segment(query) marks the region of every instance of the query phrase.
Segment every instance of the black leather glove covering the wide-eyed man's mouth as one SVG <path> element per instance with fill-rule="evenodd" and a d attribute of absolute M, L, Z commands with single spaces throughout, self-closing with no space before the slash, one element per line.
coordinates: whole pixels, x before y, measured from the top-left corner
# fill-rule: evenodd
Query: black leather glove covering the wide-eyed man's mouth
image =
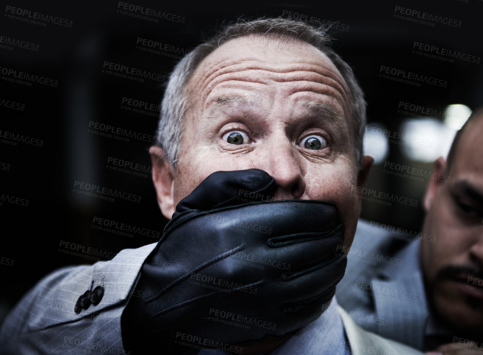
<path fill-rule="evenodd" d="M 142 266 L 142 297 L 131 297 L 123 314 L 126 350 L 240 353 L 243 343 L 322 314 L 347 262 L 337 253 L 337 208 L 270 201 L 275 189 L 262 170 L 220 171 L 181 200 Z"/>

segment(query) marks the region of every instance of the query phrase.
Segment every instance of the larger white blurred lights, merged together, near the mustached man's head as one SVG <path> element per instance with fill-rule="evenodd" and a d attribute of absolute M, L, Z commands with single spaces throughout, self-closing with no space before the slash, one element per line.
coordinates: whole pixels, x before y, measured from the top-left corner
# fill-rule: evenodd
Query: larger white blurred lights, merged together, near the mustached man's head
<path fill-rule="evenodd" d="M 401 150 L 410 160 L 432 163 L 438 157 L 446 158 L 456 131 L 468 120 L 471 109 L 465 105 L 449 105 L 443 113 L 443 122 L 408 119 L 400 126 Z"/>

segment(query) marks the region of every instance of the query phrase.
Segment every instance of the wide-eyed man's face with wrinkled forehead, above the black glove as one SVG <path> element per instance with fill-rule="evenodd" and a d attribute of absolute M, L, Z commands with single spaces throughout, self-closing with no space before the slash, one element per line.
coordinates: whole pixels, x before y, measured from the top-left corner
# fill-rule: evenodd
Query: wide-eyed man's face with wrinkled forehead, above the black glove
<path fill-rule="evenodd" d="M 334 202 L 352 244 L 360 202 L 349 90 L 326 55 L 241 37 L 208 55 L 188 87 L 174 205 L 215 171 L 257 168 L 275 178 L 274 200 Z"/>

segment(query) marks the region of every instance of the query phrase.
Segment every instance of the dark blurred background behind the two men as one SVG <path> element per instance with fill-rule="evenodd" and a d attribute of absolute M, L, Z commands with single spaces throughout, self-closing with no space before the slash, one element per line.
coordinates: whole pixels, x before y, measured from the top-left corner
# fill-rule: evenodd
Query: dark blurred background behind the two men
<path fill-rule="evenodd" d="M 162 15 L 138 18 L 145 15 L 129 5 Z M 410 9 L 410 15 L 398 7 Z M 316 6 L 11 1 L 0 9 L 0 323 L 46 273 L 93 263 L 95 253 L 108 260 L 123 248 L 158 240 L 167 220 L 156 204 L 147 152 L 156 105 L 178 57 L 224 22 L 242 15 L 283 15 L 332 23 L 334 48 L 355 68 L 368 101 L 366 150 L 376 164 L 367 187 L 376 192 L 365 194 L 361 217 L 371 221 L 419 231 L 432 162 L 447 153 L 469 110 L 482 104 L 480 0 L 339 0 Z M 423 13 L 454 21 L 421 24 Z M 162 44 L 154 48 L 150 41 Z M 109 63 L 160 76 L 143 81 L 115 76 Z M 382 66 L 406 74 L 386 74 Z M 426 81 L 395 80 L 408 72 Z M 47 85 L 42 78 L 48 78 Z M 139 107 L 139 101 L 146 104 Z M 102 124 L 114 128 L 102 131 Z M 118 128 L 122 133 L 113 134 Z M 81 182 L 130 193 L 136 201 L 81 194 Z M 369 200 L 379 192 L 386 197 Z M 417 203 L 388 205 L 388 196 Z M 133 232 L 123 232 L 123 223 Z M 62 252 L 66 243 L 75 244 L 74 251 L 82 246 L 80 254 Z"/>

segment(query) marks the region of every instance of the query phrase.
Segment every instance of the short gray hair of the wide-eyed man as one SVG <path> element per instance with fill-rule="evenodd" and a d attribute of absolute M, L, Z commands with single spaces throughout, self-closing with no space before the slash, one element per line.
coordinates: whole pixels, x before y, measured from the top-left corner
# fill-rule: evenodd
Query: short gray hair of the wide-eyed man
<path fill-rule="evenodd" d="M 199 44 L 174 67 L 167 83 L 166 92 L 161 102 L 161 115 L 156 132 L 156 145 L 163 148 L 173 168 L 177 166 L 183 118 L 189 103 L 193 102 L 192 94 L 186 88 L 199 63 L 230 39 L 248 35 L 272 35 L 285 40 L 298 39 L 305 41 L 332 61 L 340 71 L 350 91 L 352 119 L 354 126 L 355 158 L 358 167 L 362 163 L 363 137 L 366 127 L 366 101 L 352 68 L 334 52 L 327 28 L 313 27 L 305 22 L 287 18 L 258 18 L 247 21 L 239 19 L 223 27 L 218 34 Z"/>

